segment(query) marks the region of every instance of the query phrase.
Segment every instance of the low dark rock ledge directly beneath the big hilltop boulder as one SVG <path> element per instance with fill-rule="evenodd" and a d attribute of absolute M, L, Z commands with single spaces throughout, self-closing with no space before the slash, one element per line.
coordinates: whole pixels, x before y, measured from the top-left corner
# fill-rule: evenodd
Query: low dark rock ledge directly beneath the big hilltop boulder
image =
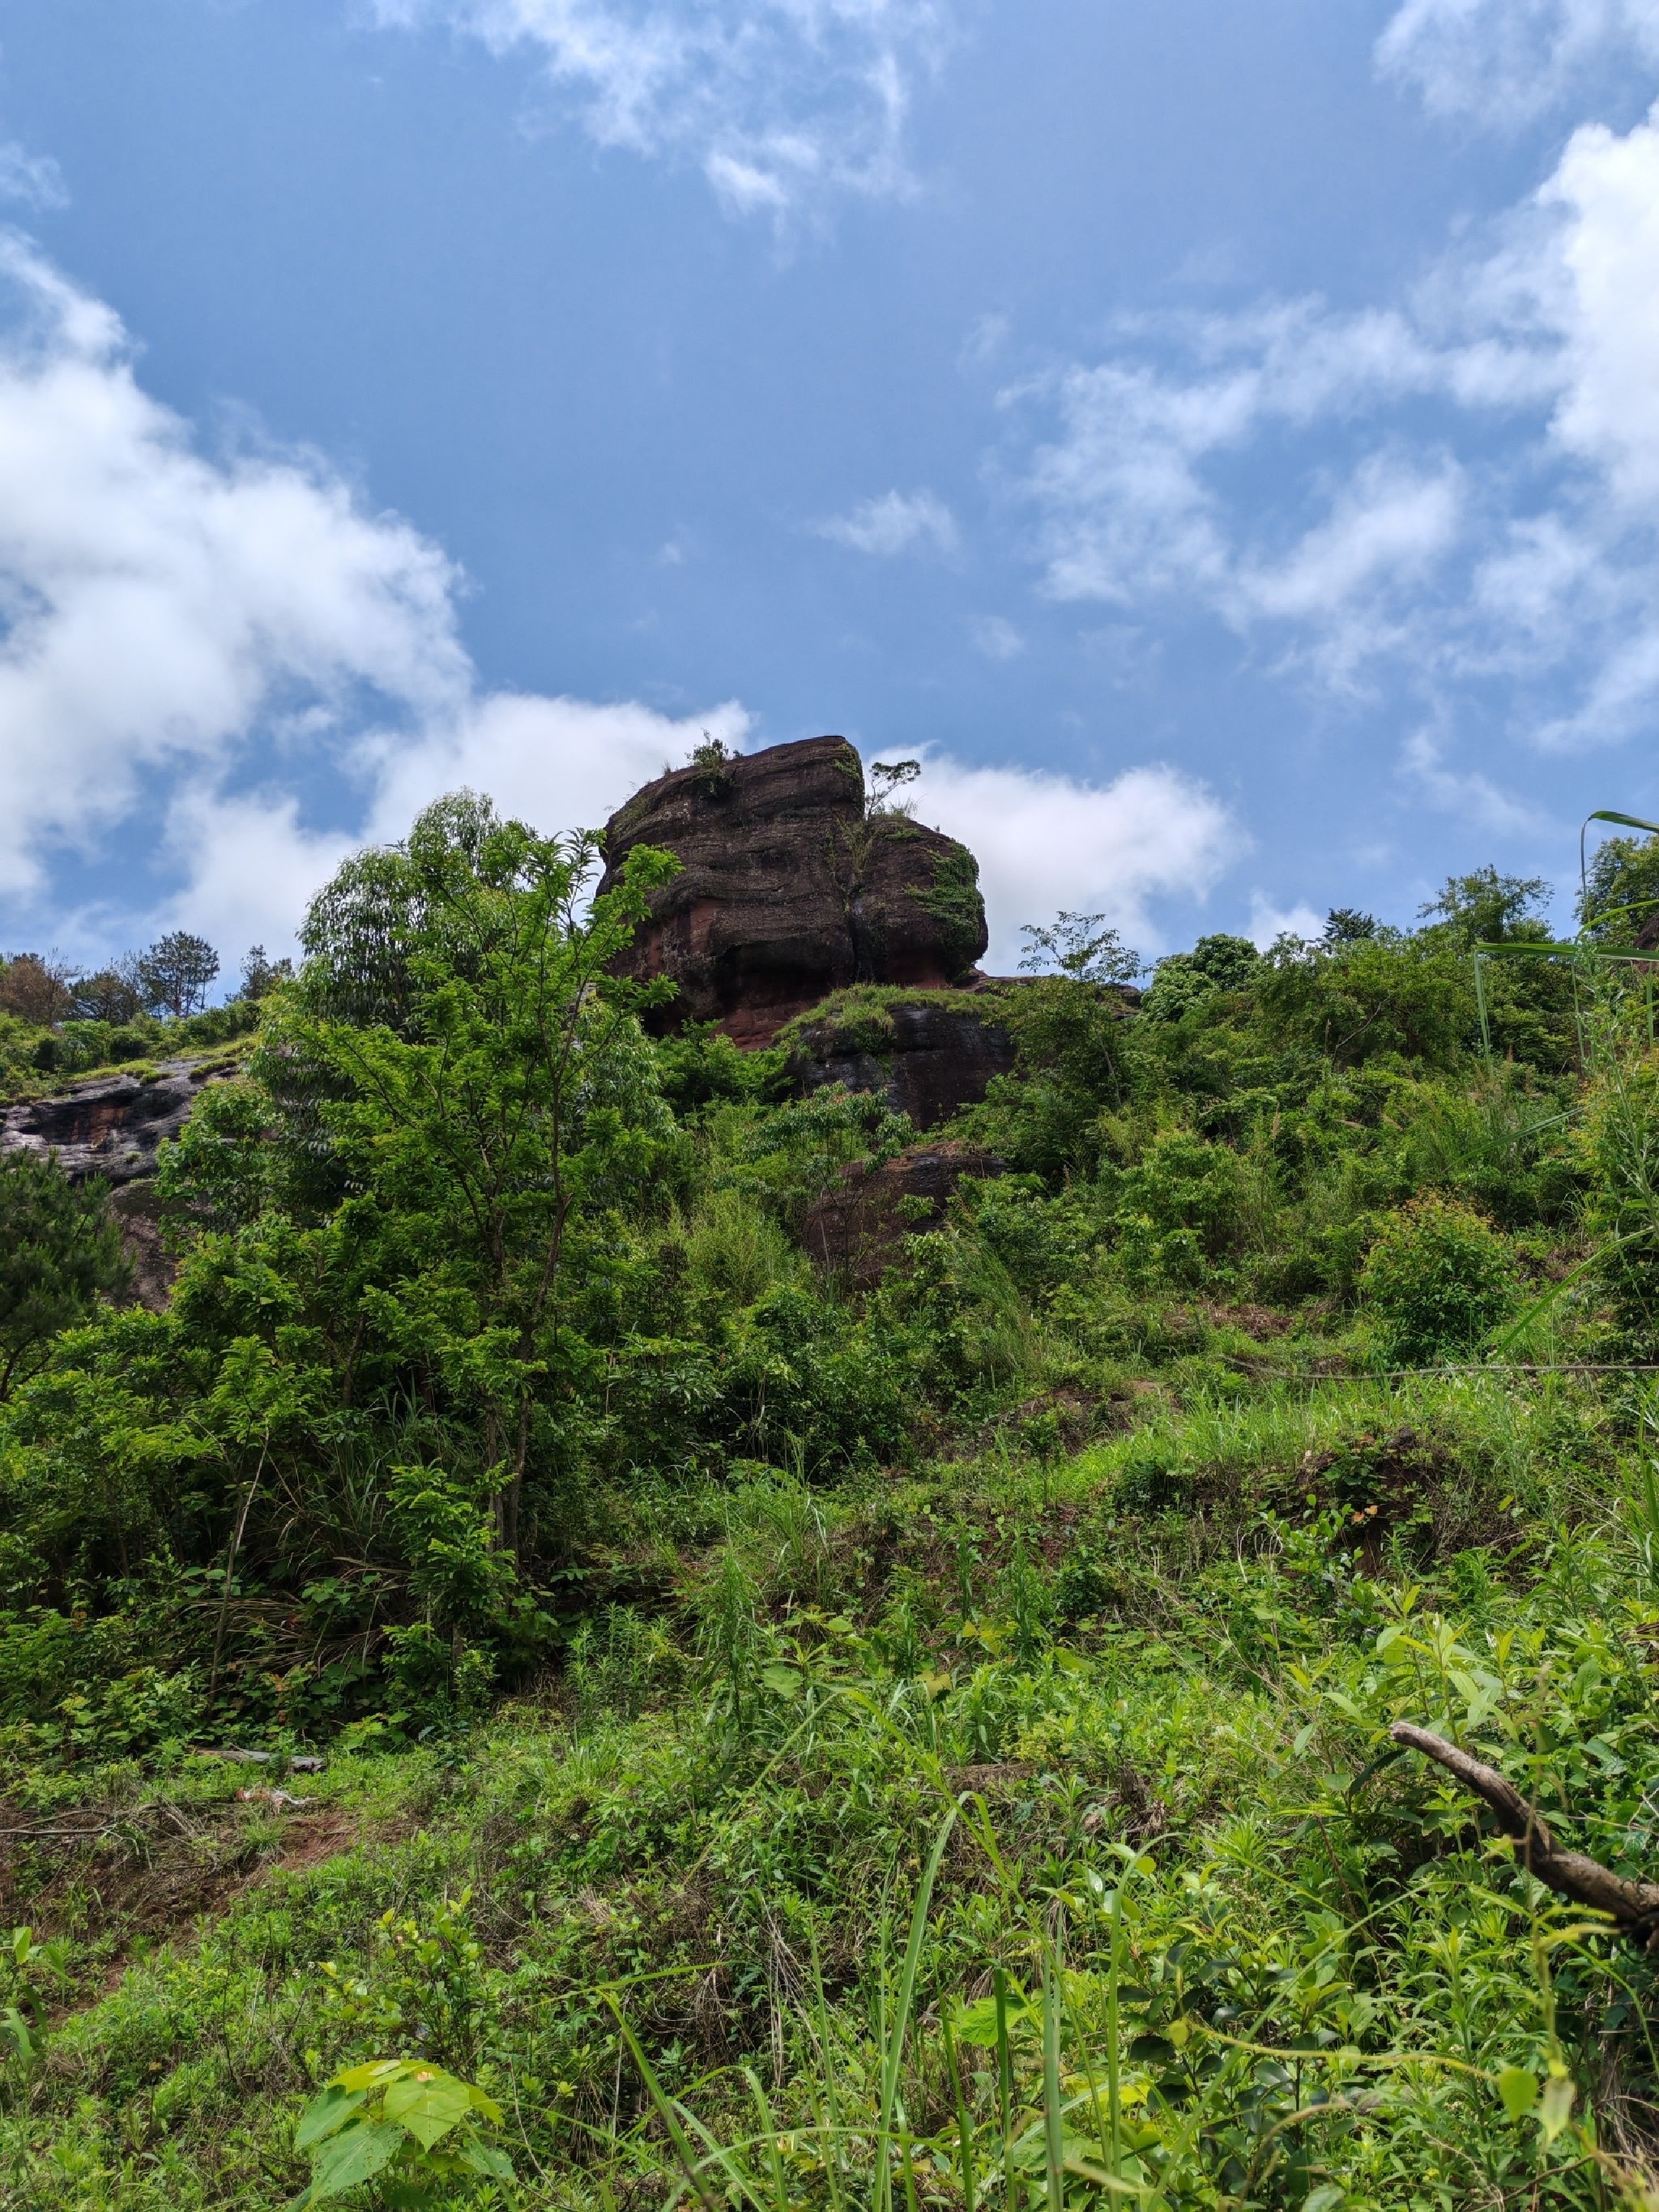
<path fill-rule="evenodd" d="M 796 1095 L 845 1084 L 876 1091 L 916 1128 L 938 1128 L 964 1106 L 978 1106 L 995 1075 L 1013 1068 L 1013 1037 L 984 1006 L 962 995 L 894 1000 L 860 1009 L 854 1020 L 834 1009 L 790 1031 L 790 1079 Z"/>

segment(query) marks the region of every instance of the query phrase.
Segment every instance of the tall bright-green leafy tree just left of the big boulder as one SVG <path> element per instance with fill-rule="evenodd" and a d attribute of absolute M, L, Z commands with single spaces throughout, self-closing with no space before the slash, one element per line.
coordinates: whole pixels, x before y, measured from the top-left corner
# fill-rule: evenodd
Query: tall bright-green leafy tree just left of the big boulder
<path fill-rule="evenodd" d="M 637 847 L 588 905 L 597 865 L 597 834 L 542 838 L 471 792 L 347 860 L 252 1084 L 204 1102 L 168 1177 L 259 1232 L 215 1248 L 219 1310 L 257 1310 L 259 1252 L 341 1347 L 319 1387 L 416 1378 L 467 1422 L 509 1553 L 526 1475 L 571 1471 L 591 1442 L 617 1221 L 672 1144 L 633 1011 L 655 993 L 611 967 L 677 863 Z"/>

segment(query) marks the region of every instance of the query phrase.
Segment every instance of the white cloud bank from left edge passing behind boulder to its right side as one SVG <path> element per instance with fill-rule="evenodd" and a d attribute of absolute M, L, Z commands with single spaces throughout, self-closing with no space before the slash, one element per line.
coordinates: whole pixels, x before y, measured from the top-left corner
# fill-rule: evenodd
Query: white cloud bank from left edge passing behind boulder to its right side
<path fill-rule="evenodd" d="M 728 701 L 675 719 L 478 684 L 456 573 L 314 453 L 206 456 L 133 374 L 117 319 L 0 239 L 0 911 L 7 936 L 95 958 L 159 925 L 234 962 L 292 942 L 307 896 L 365 838 L 473 785 L 546 830 L 595 825 Z M 1000 956 L 1057 905 L 1141 927 L 1232 849 L 1223 810 L 1170 770 L 1093 787 L 931 757 L 920 785 L 984 856 Z M 307 805 L 303 794 L 325 794 Z M 64 854 L 155 827 L 155 885 L 97 909 L 55 896 Z"/>

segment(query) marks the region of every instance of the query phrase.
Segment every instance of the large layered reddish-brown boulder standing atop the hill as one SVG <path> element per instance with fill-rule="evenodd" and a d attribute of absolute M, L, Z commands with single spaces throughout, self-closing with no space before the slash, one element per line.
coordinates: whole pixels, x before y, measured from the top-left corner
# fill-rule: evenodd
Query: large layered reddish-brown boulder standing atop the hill
<path fill-rule="evenodd" d="M 947 989 L 987 945 L 973 854 L 905 814 L 872 814 L 843 737 L 648 783 L 606 825 L 602 891 L 635 845 L 681 863 L 624 962 L 677 984 L 659 1029 L 719 1022 L 739 1044 L 770 1044 L 854 982 Z"/>

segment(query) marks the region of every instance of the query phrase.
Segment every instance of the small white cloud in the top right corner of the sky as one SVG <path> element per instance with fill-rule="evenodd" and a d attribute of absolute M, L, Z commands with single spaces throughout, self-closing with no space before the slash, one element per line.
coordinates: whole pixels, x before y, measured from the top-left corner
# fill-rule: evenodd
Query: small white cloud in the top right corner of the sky
<path fill-rule="evenodd" d="M 1659 66 L 1659 0 L 1405 0 L 1376 58 L 1440 115 L 1515 126 L 1597 62 Z"/>

